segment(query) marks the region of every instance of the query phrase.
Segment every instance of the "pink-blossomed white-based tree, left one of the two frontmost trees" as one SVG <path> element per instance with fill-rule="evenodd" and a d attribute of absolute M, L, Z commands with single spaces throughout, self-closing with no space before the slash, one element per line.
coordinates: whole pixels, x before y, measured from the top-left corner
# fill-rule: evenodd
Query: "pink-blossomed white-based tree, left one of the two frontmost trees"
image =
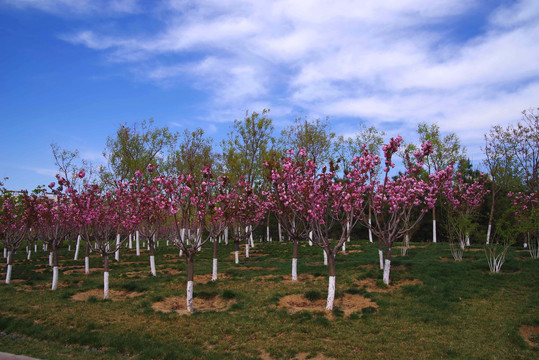
<path fill-rule="evenodd" d="M 213 179 L 211 168 L 201 170 L 201 177 L 180 174 L 177 177 L 158 177 L 167 202 L 170 226 L 176 234 L 173 242 L 187 260 L 187 311 L 193 312 L 194 262 L 201 247 L 215 239 L 225 227 L 222 221 L 226 194 L 221 191 L 225 178 Z M 214 258 L 215 272 L 217 270 Z"/>

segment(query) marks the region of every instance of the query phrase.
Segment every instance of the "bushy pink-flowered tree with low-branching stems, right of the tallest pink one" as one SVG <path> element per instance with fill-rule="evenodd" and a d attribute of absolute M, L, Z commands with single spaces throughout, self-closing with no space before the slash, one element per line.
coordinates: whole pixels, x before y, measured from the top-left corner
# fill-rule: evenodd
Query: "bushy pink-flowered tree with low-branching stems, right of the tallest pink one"
<path fill-rule="evenodd" d="M 447 208 L 447 230 L 449 246 L 455 261 L 461 261 L 464 249 L 470 245 L 470 234 L 477 227 L 478 209 L 488 193 L 486 179 L 481 177 L 472 183 L 466 182 L 458 172 L 448 179 L 442 188 Z"/>

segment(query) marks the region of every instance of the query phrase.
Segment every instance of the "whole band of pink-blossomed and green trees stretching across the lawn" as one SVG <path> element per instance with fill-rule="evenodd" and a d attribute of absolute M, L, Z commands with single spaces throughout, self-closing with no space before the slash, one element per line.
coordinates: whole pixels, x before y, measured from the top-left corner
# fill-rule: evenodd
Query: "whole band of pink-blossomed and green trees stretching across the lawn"
<path fill-rule="evenodd" d="M 537 145 L 537 116 L 530 112 L 525 112 L 524 116 L 529 123 L 500 132 L 511 130 L 514 137 L 527 137 L 529 141 L 524 144 Z M 52 288 L 56 288 L 57 249 L 66 236 L 80 235 L 86 240 L 87 255 L 94 251 L 103 256 L 104 294 L 107 296 L 109 255 L 117 254 L 120 246 L 135 233 L 138 248 L 140 234 L 148 242 L 151 272 L 156 275 L 155 239 L 166 237 L 186 257 L 187 307 L 192 310 L 197 251 L 212 241 L 214 254 L 217 254 L 217 239 L 226 237 L 229 229 L 236 249 L 242 241 L 249 244 L 256 226 L 275 214 L 279 229 L 282 227 L 294 242 L 293 279 L 297 279 L 299 242 L 309 240 L 323 249 L 329 270 L 327 307 L 331 309 L 335 293 L 335 256 L 349 241 L 356 224 L 363 224 L 378 239 L 380 268 L 387 284 L 394 242 L 409 240 L 410 232 L 427 211 L 435 209 L 439 199 L 443 200 L 439 202 L 442 208 L 449 209 L 449 239 L 458 245 L 452 247 L 455 259 L 461 259 L 461 251 L 475 226 L 474 217 L 488 192 L 485 177 L 463 168 L 465 161 L 459 155 L 462 149 L 458 138 L 451 135 L 440 140 L 435 125 L 420 126 L 420 134 L 427 140 L 421 146 L 404 146 L 402 138 L 397 136 L 378 152 L 382 134 L 374 128 L 363 128 L 356 139 L 339 139 L 335 143 L 327 122 L 297 121 L 296 127 L 289 129 L 286 140 L 295 145 L 296 150 L 283 154 L 275 151 L 279 148 L 271 137 L 267 112 L 253 113 L 243 122 L 235 122 L 236 131 L 224 142 L 221 157 L 213 154 L 211 141 L 203 137 L 203 132 L 196 131 L 186 132 L 179 150 L 170 152 L 166 158 L 163 148 L 174 136 L 169 137 L 166 128 L 151 129 L 144 125 L 143 129 L 139 133 L 135 127 L 121 127 L 118 138 L 109 139 L 107 144 L 108 169 L 90 174 L 96 175 L 94 177 L 76 169 L 76 153 L 53 148 L 63 174 L 57 176 L 58 186 L 49 185 L 56 201 L 38 193 L 15 197 L 3 192 L 0 225 L 9 253 L 6 282 L 11 276 L 13 254 L 22 241 L 39 239 L 51 247 Z M 490 148 L 499 146 L 493 138 L 486 138 Z M 361 142 L 363 144 L 354 151 Z M 340 144 L 340 156 L 334 161 L 330 149 L 335 144 Z M 517 147 L 516 141 L 512 144 L 511 151 L 523 146 Z M 511 151 L 505 152 L 504 161 L 512 161 L 513 156 L 522 157 Z M 511 211 L 500 219 L 509 224 L 508 216 L 511 216 L 521 226 L 513 226 L 511 233 L 507 230 L 510 227 L 502 222 L 495 227 L 498 231 L 494 242 L 496 246 L 502 242 L 503 246 L 501 252 L 496 247 L 489 247 L 490 255 L 487 251 L 493 271 L 499 271 L 507 246 L 516 234 L 524 233 L 527 242 L 535 244 L 536 248 L 537 191 L 529 191 L 529 186 L 537 186 L 537 159 L 530 162 L 528 157 L 537 156 L 536 151 L 537 147 L 525 153 L 523 163 L 511 162 L 515 176 L 522 173 L 529 176 L 523 178 L 525 181 L 513 183 L 513 189 L 521 191 L 509 193 L 510 197 L 506 198 L 512 202 Z M 401 155 L 405 170 L 390 176 L 395 168 L 395 154 Z M 347 161 L 347 156 L 352 155 Z M 141 156 L 150 162 L 146 164 Z M 170 159 L 175 159 L 175 167 Z M 458 170 L 464 171 L 455 172 L 455 161 L 459 159 Z M 153 160 L 162 167 L 153 165 Z M 321 165 L 326 161 L 327 166 Z M 433 216 L 433 229 L 435 219 Z M 531 241 L 532 238 L 535 240 Z M 247 245 L 247 251 L 248 248 Z M 214 264 L 216 267 L 216 256 Z"/>

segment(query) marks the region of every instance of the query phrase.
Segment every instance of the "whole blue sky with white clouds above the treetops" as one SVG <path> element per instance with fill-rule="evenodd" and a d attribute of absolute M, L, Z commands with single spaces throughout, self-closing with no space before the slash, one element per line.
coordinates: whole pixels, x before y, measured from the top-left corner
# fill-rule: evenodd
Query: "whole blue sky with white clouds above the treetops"
<path fill-rule="evenodd" d="M 99 163 L 123 123 L 217 142 L 264 108 L 277 131 L 328 116 L 414 142 L 437 123 L 479 161 L 539 106 L 538 18 L 536 0 L 4 0 L 0 177 L 49 183 L 53 142 Z"/>

